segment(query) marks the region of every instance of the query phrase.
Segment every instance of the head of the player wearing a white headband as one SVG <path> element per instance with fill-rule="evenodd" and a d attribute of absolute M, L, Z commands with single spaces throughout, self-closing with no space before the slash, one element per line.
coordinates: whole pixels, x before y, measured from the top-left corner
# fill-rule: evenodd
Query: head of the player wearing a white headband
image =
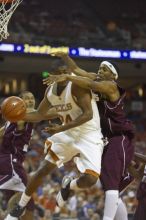
<path fill-rule="evenodd" d="M 103 61 L 99 66 L 98 76 L 101 80 L 117 80 L 118 72 L 116 64 L 111 61 Z"/>

